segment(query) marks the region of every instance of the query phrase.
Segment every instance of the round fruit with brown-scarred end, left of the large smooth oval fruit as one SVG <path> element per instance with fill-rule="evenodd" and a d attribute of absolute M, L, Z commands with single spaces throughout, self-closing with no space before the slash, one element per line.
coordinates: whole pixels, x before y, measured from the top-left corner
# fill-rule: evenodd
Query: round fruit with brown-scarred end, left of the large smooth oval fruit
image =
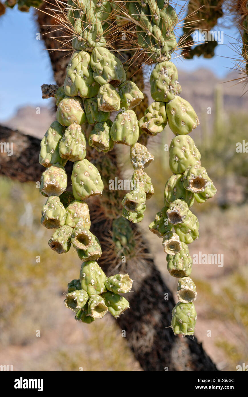
<path fill-rule="evenodd" d="M 40 178 L 40 190 L 50 196 L 59 196 L 67 187 L 67 174 L 60 164 L 53 164 Z"/>

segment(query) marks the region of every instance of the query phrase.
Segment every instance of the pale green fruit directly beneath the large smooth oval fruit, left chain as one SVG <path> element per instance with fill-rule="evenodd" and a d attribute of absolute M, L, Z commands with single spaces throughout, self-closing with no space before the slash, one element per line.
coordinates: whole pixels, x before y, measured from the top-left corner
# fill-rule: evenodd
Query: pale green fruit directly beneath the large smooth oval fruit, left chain
<path fill-rule="evenodd" d="M 90 229 L 90 212 L 86 202 L 79 200 L 72 201 L 66 208 L 66 213 L 65 225 L 72 228 L 80 225 L 86 229 Z"/>

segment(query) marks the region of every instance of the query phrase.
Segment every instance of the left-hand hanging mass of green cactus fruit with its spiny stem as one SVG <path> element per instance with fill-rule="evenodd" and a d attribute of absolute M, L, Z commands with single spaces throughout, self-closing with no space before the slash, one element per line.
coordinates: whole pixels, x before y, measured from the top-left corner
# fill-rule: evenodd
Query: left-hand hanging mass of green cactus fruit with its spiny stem
<path fill-rule="evenodd" d="M 135 149 L 139 127 L 132 108 L 141 102 L 143 94 L 132 81 L 126 81 L 122 63 L 106 48 L 111 3 L 69 0 L 67 8 L 75 51 L 67 66 L 64 86 L 55 94 L 57 121 L 51 124 L 41 142 L 39 162 L 46 170 L 41 177 L 40 191 L 48 196 L 41 223 L 48 229 L 56 229 L 49 241 L 53 250 L 62 254 L 72 245 L 83 260 L 80 278 L 68 284 L 65 306 L 75 312 L 76 320 L 90 323 L 102 318 L 107 311 L 116 318 L 129 308 L 128 301 L 120 294 L 131 290 L 132 280 L 127 274 L 107 278 L 97 264 L 102 254 L 101 245 L 90 231 L 86 199 L 103 195 L 106 200 L 110 193 L 104 187 L 99 170 L 85 158 L 86 141 L 98 152 L 109 152 L 114 143 L 132 145 L 132 150 L 139 152 L 139 147 Z M 122 112 L 112 123 L 110 112 L 120 108 Z M 144 157 L 141 152 L 143 162 L 140 160 L 137 171 L 150 161 Z M 68 160 L 74 162 L 72 193 L 66 191 L 64 166 Z M 103 157 L 99 168 L 106 179 L 114 166 L 109 158 Z M 134 178 L 139 177 L 137 172 Z M 144 177 L 142 170 L 141 177 Z M 113 200 L 111 202 L 113 204 Z M 113 241 L 123 254 L 133 250 L 132 237 L 128 222 L 121 217 L 115 219 Z"/>

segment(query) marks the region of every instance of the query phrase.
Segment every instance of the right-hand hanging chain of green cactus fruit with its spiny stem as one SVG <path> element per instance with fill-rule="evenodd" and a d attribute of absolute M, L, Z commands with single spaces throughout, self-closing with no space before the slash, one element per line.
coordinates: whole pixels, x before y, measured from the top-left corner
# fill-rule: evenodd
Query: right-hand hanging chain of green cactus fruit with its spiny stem
<path fill-rule="evenodd" d="M 213 197 L 216 188 L 206 169 L 201 166 L 200 152 L 188 135 L 199 125 L 199 120 L 189 102 L 178 96 L 181 86 L 178 83 L 176 66 L 170 62 L 176 47 L 173 32 L 177 23 L 176 12 L 167 2 L 161 0 L 127 2 L 127 6 L 130 17 L 137 21 L 137 37 L 141 50 L 145 49 L 148 57 L 158 62 L 150 77 L 151 96 L 155 102 L 145 110 L 144 116 L 139 120 L 139 128 L 154 136 L 162 132 L 168 123 L 176 135 L 169 149 L 173 175 L 165 185 L 165 206 L 156 214 L 149 229 L 163 239 L 168 271 L 179 278 L 179 302 L 172 310 L 172 330 L 175 334 L 193 335 L 196 323 L 193 303 L 196 299 L 196 287 L 189 277 L 192 259 L 188 244 L 198 239 L 199 222 L 189 208 L 194 200 L 202 203 Z M 162 35 L 158 35 L 158 31 Z M 134 159 L 132 150 L 131 147 L 131 158 Z M 147 153 L 145 147 L 142 151 L 148 164 L 153 156 Z M 139 194 L 134 197 L 132 192 L 128 193 L 126 200 L 122 202 L 124 206 L 126 202 L 132 202 L 137 213 L 136 219 L 143 216 L 144 191 L 146 195 L 153 193 L 150 180 L 140 180 L 143 182 L 143 189 L 139 190 Z"/>

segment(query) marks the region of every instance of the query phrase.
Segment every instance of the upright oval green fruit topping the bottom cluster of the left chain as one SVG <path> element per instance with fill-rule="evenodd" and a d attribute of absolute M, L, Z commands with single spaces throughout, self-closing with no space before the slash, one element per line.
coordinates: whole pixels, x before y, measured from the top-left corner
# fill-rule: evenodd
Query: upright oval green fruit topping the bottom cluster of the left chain
<path fill-rule="evenodd" d="M 80 270 L 80 283 L 89 296 L 106 292 L 107 277 L 95 260 L 83 262 Z"/>

